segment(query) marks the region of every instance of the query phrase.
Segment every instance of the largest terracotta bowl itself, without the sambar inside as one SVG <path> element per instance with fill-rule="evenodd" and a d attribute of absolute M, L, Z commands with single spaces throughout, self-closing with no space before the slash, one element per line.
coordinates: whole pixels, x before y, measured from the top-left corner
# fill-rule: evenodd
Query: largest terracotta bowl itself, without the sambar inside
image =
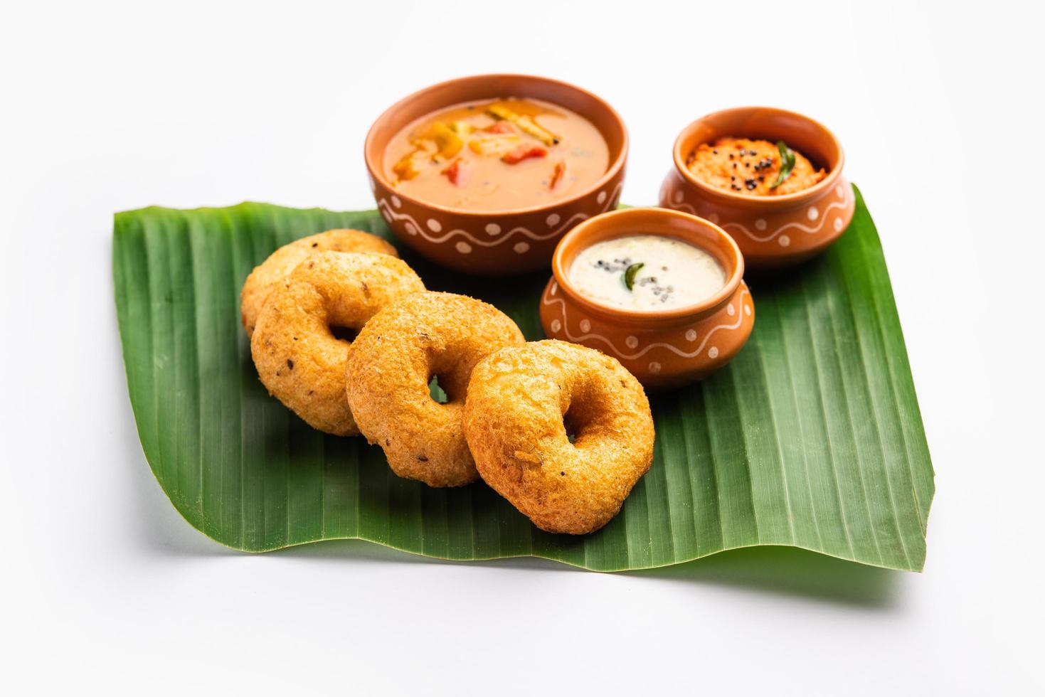
<path fill-rule="evenodd" d="M 609 145 L 606 173 L 570 199 L 492 213 L 447 208 L 395 191 L 381 162 L 396 133 L 414 119 L 445 107 L 497 97 L 543 99 L 587 118 Z M 566 231 L 617 207 L 628 133 L 609 104 L 573 85 L 529 75 L 474 75 L 434 85 L 390 107 L 370 127 L 364 153 L 377 208 L 399 239 L 444 266 L 500 276 L 547 268 L 555 245 Z"/>

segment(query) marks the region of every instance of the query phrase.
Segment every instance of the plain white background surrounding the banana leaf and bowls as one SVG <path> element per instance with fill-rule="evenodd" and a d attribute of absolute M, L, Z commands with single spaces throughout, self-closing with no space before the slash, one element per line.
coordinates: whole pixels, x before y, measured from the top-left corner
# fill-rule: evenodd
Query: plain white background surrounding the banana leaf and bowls
<path fill-rule="evenodd" d="M 1040 3 L 19 5 L 0 9 L 0 691 L 1045 688 Z M 618 575 L 362 542 L 249 556 L 179 517 L 126 397 L 113 212 L 370 208 L 371 121 L 493 71 L 617 107 L 630 204 L 655 203 L 675 135 L 710 111 L 835 131 L 937 471 L 923 574 L 774 550 Z"/>

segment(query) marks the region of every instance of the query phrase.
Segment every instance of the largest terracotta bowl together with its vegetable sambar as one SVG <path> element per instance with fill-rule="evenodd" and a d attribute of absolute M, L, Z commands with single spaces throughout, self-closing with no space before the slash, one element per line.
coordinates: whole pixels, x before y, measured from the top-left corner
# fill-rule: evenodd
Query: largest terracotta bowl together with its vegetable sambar
<path fill-rule="evenodd" d="M 390 107 L 364 153 L 400 240 L 443 266 L 500 276 L 548 268 L 566 232 L 617 207 L 628 134 L 581 88 L 474 75 Z"/>

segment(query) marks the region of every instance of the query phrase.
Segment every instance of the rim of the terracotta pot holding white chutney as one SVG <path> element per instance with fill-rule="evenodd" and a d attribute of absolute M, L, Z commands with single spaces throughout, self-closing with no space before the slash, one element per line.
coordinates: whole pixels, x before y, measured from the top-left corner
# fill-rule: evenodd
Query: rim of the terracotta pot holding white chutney
<path fill-rule="evenodd" d="M 683 305 L 681 307 L 673 307 L 671 309 L 664 310 L 642 311 L 622 309 L 620 307 L 606 305 L 593 300 L 579 292 L 570 282 L 570 274 L 568 269 L 565 268 L 564 256 L 573 246 L 585 247 L 584 245 L 581 245 L 581 242 L 577 241 L 578 238 L 582 238 L 584 235 L 589 234 L 593 229 L 598 229 L 601 226 L 607 225 L 613 227 L 621 226 L 620 234 L 612 235 L 612 237 L 623 237 L 629 234 L 664 235 L 665 233 L 660 232 L 643 233 L 642 231 L 635 230 L 634 227 L 629 226 L 632 218 L 647 215 L 676 218 L 691 226 L 690 229 L 692 229 L 693 226 L 696 226 L 711 230 L 715 233 L 715 236 L 719 241 L 719 250 L 725 250 L 726 256 L 730 257 L 730 260 L 733 261 L 733 273 L 729 274 L 728 278 L 726 278 L 725 284 L 721 289 L 719 289 L 718 293 L 692 305 Z M 689 242 L 694 247 L 699 247 L 700 249 L 707 251 L 706 245 L 701 243 L 703 240 L 698 238 L 689 238 L 681 235 L 677 238 Z M 740 247 L 737 245 L 737 241 L 730 237 L 725 230 L 705 218 L 698 217 L 691 213 L 684 213 L 670 208 L 660 208 L 657 206 L 621 208 L 614 211 L 602 213 L 600 215 L 595 215 L 587 220 L 580 223 L 577 227 L 563 235 L 562 239 L 559 240 L 559 243 L 556 245 L 555 252 L 552 255 L 552 276 L 564 293 L 584 306 L 588 311 L 611 320 L 624 320 L 630 324 L 664 324 L 678 320 L 692 319 L 696 316 L 706 313 L 709 310 L 717 310 L 721 305 L 728 302 L 734 294 L 737 293 L 737 289 L 743 281 L 744 255 L 740 251 Z"/>

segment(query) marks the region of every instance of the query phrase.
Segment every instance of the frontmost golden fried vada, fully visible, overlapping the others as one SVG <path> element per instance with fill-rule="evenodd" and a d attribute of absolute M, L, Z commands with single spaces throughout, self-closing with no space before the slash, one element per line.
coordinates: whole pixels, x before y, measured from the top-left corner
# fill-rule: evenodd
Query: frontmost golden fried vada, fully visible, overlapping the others
<path fill-rule="evenodd" d="M 481 362 L 464 432 L 483 480 L 552 533 L 602 528 L 653 459 L 653 417 L 638 380 L 616 358 L 560 341 Z"/>

